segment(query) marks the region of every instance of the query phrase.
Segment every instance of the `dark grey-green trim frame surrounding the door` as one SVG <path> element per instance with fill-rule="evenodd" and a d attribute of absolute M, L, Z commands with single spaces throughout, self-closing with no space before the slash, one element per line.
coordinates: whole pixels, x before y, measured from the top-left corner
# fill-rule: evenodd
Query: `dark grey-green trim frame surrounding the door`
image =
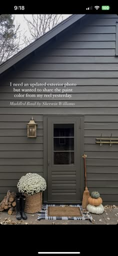
<path fill-rule="evenodd" d="M 80 114 L 47 114 L 43 115 L 43 177 L 47 184 L 47 118 L 48 117 L 80 117 L 80 198 L 82 201 L 82 194 L 84 190 L 84 168 L 83 168 L 83 158 L 82 155 L 84 153 L 84 115 Z M 80 203 L 81 203 L 80 201 Z M 49 203 L 47 201 L 47 189 L 43 192 L 43 202 Z M 59 202 L 58 202 L 59 203 Z"/>

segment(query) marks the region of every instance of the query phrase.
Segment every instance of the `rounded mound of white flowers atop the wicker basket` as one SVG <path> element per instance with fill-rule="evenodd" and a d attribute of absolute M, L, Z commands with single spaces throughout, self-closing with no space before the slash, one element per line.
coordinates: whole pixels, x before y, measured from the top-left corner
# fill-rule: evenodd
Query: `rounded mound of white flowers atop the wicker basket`
<path fill-rule="evenodd" d="M 37 173 L 27 173 L 19 179 L 17 187 L 19 192 L 33 195 L 46 189 L 46 181 Z"/>

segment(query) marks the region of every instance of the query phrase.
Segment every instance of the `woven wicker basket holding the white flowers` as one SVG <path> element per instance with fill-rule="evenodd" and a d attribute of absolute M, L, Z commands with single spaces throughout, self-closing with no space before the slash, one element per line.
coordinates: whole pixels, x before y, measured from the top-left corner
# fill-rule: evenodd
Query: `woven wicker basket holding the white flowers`
<path fill-rule="evenodd" d="M 38 192 L 33 195 L 28 195 L 24 193 L 26 197 L 24 211 L 26 213 L 35 213 L 42 208 L 42 192 Z"/>

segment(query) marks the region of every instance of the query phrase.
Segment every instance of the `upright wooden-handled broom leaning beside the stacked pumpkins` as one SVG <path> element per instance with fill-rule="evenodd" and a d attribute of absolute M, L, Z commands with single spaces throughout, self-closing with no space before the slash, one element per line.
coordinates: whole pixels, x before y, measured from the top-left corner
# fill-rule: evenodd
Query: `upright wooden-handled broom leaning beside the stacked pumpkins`
<path fill-rule="evenodd" d="M 83 160 L 84 160 L 84 175 L 85 175 L 85 190 L 83 192 L 83 197 L 82 197 L 82 208 L 86 209 L 86 206 L 88 204 L 88 197 L 90 196 L 89 191 L 87 189 L 87 181 L 86 181 L 86 164 L 85 164 L 85 158 L 87 155 L 83 155 Z"/>

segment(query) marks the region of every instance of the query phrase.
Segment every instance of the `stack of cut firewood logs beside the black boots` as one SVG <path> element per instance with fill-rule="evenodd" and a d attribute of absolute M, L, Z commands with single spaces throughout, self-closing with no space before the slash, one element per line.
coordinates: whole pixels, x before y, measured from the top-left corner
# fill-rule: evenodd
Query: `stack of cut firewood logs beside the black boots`
<path fill-rule="evenodd" d="M 9 215 L 13 214 L 16 210 L 15 196 L 15 192 L 8 190 L 6 196 L 4 196 L 0 203 L 0 211 L 7 210 Z"/>

